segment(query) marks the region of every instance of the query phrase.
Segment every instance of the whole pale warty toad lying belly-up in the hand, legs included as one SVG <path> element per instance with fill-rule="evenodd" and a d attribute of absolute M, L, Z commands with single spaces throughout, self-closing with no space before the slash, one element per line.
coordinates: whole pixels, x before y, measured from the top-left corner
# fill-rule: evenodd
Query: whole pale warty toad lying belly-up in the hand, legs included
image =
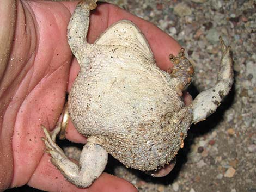
<path fill-rule="evenodd" d="M 81 1 L 68 26 L 68 40 L 80 64 L 69 94 L 69 115 L 88 137 L 79 165 L 54 142 L 43 127 L 47 152 L 63 175 L 77 187 L 88 187 L 107 164 L 108 153 L 130 168 L 157 170 L 174 159 L 192 123 L 214 113 L 233 83 L 230 47 L 222 46 L 217 83 L 185 106 L 181 95 L 193 77 L 193 67 L 181 49 L 169 55 L 174 67 L 156 66 L 140 30 L 122 20 L 94 44 L 86 40 L 90 10 L 96 1 Z"/>

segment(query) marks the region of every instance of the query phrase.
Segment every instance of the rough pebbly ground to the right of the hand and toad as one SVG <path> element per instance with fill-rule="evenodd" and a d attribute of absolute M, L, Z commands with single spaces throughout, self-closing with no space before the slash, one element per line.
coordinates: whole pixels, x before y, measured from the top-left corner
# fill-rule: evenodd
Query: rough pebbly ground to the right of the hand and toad
<path fill-rule="evenodd" d="M 235 79 L 217 112 L 191 127 L 178 153 L 178 163 L 168 176 L 153 178 L 126 169 L 115 160 L 109 163 L 115 165 L 113 172 L 140 192 L 255 192 L 256 1 L 108 2 L 153 22 L 187 49 L 196 63 L 192 95 L 216 82 L 220 35 L 231 46 Z"/>

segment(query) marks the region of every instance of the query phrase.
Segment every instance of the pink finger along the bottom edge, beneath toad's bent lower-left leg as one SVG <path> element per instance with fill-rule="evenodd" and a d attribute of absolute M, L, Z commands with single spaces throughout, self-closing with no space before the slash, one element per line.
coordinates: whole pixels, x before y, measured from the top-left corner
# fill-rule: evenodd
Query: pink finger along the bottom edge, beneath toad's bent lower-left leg
<path fill-rule="evenodd" d="M 50 156 L 44 154 L 38 167 L 28 182 L 28 185 L 44 191 L 77 191 L 77 192 L 107 192 L 107 191 L 137 191 L 132 184 L 113 175 L 103 173 L 89 188 L 77 188 L 68 182 L 60 171 L 50 162 Z"/>

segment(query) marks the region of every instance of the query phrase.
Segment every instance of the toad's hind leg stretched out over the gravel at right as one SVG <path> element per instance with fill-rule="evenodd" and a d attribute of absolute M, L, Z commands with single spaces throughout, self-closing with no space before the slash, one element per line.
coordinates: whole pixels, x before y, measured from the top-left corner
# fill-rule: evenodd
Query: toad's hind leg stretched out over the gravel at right
<path fill-rule="evenodd" d="M 220 43 L 222 47 L 222 58 L 217 83 L 211 89 L 201 92 L 192 102 L 192 123 L 205 120 L 206 117 L 214 113 L 217 107 L 220 106 L 224 96 L 231 89 L 233 69 L 230 46 L 226 46 L 221 37 Z"/>

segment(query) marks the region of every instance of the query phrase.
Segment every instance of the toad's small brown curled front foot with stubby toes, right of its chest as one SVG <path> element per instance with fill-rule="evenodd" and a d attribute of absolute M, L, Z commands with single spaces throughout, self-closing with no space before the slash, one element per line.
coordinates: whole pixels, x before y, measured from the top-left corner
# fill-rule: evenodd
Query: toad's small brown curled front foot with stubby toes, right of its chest
<path fill-rule="evenodd" d="M 169 55 L 169 60 L 172 61 L 173 68 L 167 70 L 172 77 L 173 86 L 176 86 L 176 89 L 180 94 L 182 94 L 182 90 L 190 85 L 194 76 L 194 68 L 190 61 L 185 57 L 184 51 L 185 49 L 181 48 L 177 57 L 173 54 Z"/>

